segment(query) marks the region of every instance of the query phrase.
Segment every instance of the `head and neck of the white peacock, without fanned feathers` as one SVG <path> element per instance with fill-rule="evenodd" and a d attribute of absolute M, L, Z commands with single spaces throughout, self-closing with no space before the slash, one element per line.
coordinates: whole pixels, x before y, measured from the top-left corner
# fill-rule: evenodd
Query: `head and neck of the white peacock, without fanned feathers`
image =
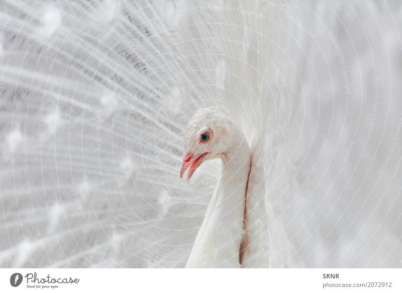
<path fill-rule="evenodd" d="M 180 177 L 207 160 L 222 160 L 222 175 L 186 267 L 240 267 L 250 148 L 242 132 L 217 109 L 194 113 L 185 130 L 186 151 Z M 218 252 L 219 247 L 224 247 Z"/>

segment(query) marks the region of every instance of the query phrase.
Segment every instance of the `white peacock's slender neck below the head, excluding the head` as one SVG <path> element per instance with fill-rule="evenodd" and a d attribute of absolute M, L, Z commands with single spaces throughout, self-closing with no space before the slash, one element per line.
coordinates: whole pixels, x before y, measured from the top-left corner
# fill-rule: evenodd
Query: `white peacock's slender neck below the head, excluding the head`
<path fill-rule="evenodd" d="M 236 131 L 240 133 L 240 131 Z M 240 267 L 250 148 L 243 135 L 232 139 L 222 175 L 208 205 L 186 267 Z"/>

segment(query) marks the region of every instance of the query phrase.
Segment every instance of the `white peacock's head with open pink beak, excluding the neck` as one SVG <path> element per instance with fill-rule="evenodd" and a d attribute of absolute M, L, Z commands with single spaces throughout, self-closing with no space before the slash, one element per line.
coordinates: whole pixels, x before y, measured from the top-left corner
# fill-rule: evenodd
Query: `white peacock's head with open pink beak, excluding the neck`
<path fill-rule="evenodd" d="M 185 152 L 180 178 L 188 169 L 187 181 L 205 161 L 226 155 L 230 148 L 233 123 L 217 108 L 197 110 L 185 129 Z"/>

